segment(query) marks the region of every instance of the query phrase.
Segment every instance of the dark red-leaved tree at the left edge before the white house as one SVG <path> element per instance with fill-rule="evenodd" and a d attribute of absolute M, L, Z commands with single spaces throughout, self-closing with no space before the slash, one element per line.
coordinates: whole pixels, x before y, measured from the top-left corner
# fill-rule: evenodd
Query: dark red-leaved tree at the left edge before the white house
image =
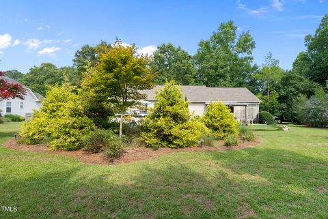
<path fill-rule="evenodd" d="M 0 71 L 0 76 L 5 76 L 5 72 Z M 26 92 L 22 85 L 8 83 L 4 78 L 0 78 L 0 100 L 10 98 L 24 99 Z"/>

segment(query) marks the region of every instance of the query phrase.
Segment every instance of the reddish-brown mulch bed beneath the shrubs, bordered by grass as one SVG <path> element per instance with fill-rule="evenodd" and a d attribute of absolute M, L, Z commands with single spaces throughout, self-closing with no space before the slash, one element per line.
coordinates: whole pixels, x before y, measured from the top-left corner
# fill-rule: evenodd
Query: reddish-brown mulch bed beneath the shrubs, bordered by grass
<path fill-rule="evenodd" d="M 101 153 L 92 154 L 83 150 L 79 151 L 61 151 L 56 150 L 52 151 L 46 145 L 25 145 L 25 144 L 17 144 L 15 138 L 10 138 L 10 140 L 6 141 L 3 145 L 10 149 L 18 150 L 18 151 L 28 151 L 28 152 L 36 152 L 43 154 L 57 154 L 61 156 L 74 156 L 77 159 L 81 160 L 81 162 L 86 164 L 125 164 L 136 162 L 138 160 L 146 160 L 152 158 L 154 156 L 159 156 L 162 154 L 170 154 L 177 152 L 190 152 L 190 151 L 227 151 L 234 149 L 243 149 L 245 147 L 254 147 L 258 144 L 262 143 L 258 138 L 256 142 L 245 142 L 240 143 L 238 146 L 226 147 L 223 145 L 223 141 L 217 141 L 215 146 L 208 147 L 187 147 L 180 149 L 171 149 L 171 148 L 159 148 L 154 151 L 154 149 L 148 147 L 126 147 L 124 148 L 124 153 L 120 158 L 117 159 L 107 159 L 102 156 Z"/>

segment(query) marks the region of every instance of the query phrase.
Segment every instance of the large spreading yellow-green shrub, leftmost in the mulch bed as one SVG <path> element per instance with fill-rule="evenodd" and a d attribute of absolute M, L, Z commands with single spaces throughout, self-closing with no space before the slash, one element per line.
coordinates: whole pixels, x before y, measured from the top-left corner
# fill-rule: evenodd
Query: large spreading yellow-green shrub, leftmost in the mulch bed
<path fill-rule="evenodd" d="M 81 100 L 72 87 L 54 87 L 46 93 L 40 111 L 20 130 L 20 143 L 48 141 L 51 149 L 81 149 L 82 136 L 94 129 L 92 120 L 83 115 Z"/>

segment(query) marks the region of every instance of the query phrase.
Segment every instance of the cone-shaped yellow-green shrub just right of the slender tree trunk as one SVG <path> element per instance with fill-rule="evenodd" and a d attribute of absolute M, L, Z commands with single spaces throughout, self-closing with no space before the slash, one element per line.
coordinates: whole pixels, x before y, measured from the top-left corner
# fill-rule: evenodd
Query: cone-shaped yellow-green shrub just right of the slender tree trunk
<path fill-rule="evenodd" d="M 154 110 L 141 125 L 140 140 L 148 147 L 194 147 L 202 134 L 202 124 L 190 120 L 188 102 L 174 81 L 156 93 Z M 203 126 L 204 128 L 204 126 Z"/>

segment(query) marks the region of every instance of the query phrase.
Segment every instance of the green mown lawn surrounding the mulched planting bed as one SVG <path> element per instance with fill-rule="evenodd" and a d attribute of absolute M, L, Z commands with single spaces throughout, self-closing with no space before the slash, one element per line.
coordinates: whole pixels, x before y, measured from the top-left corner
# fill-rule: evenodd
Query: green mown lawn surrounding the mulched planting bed
<path fill-rule="evenodd" d="M 328 129 L 249 128 L 262 145 L 118 166 L 0 146 L 0 218 L 328 218 Z"/>

